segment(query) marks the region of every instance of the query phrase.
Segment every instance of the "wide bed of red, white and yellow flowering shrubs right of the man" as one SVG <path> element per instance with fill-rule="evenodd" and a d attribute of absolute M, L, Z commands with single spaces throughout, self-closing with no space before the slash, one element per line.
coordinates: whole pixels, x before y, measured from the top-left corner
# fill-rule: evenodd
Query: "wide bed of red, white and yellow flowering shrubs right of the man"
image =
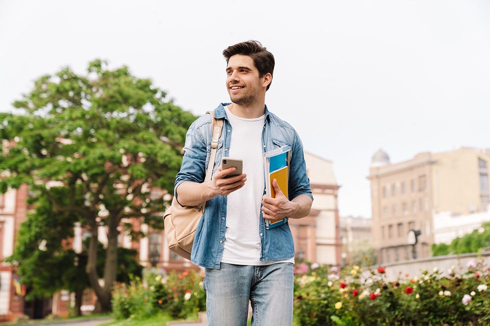
<path fill-rule="evenodd" d="M 296 275 L 294 315 L 302 326 L 489 325 L 488 284 L 490 270 L 476 261 L 463 274 L 434 269 L 394 282 L 382 267 L 320 267 Z"/>

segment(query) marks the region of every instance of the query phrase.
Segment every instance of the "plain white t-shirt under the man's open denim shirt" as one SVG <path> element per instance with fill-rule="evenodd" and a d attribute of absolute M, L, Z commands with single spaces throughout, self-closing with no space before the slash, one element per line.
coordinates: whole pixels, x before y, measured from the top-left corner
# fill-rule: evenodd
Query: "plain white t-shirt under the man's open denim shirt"
<path fill-rule="evenodd" d="M 264 189 L 262 129 L 265 115 L 246 119 L 233 115 L 227 106 L 225 111 L 232 127 L 228 156 L 243 160 L 246 181 L 243 187 L 227 196 L 226 232 L 221 263 L 235 265 L 279 263 L 260 261 L 261 244 L 258 230 L 260 203 Z M 294 258 L 281 262 L 294 263 Z"/>

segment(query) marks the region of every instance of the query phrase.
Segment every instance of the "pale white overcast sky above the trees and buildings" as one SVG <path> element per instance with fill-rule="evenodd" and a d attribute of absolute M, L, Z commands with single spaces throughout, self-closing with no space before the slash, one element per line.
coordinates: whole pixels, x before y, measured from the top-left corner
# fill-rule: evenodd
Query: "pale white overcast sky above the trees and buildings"
<path fill-rule="evenodd" d="M 372 154 L 490 147 L 490 1 L 0 0 L 0 111 L 94 58 L 149 77 L 183 109 L 228 101 L 222 50 L 275 56 L 266 104 L 333 162 L 341 216 L 371 215 Z"/>

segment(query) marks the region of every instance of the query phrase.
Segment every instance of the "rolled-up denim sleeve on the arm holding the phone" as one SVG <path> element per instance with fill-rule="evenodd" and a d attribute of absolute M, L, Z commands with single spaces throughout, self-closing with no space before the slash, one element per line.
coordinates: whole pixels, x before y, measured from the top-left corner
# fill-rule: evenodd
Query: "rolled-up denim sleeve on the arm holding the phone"
<path fill-rule="evenodd" d="M 206 143 L 204 137 L 195 127 L 195 122 L 190 125 L 185 136 L 185 146 L 183 148 L 182 165 L 175 178 L 174 194 L 176 196 L 177 187 L 184 181 L 201 183 L 204 181 Z"/>

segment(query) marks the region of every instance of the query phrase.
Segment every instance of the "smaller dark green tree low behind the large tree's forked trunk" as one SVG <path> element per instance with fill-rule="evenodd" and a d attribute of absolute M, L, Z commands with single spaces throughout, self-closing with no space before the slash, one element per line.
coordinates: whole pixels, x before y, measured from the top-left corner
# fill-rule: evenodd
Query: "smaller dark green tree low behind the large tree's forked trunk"
<path fill-rule="evenodd" d="M 63 188 L 53 188 L 51 195 L 59 202 L 63 201 Z M 64 199 L 66 200 L 66 199 Z M 90 287 L 85 272 L 87 264 L 85 248 L 76 253 L 67 244 L 73 237 L 73 224 L 76 221 L 69 212 L 54 213 L 51 202 L 42 194 L 31 197 L 29 203 L 35 203 L 35 210 L 20 225 L 17 245 L 8 262 L 18 265 L 22 283 L 29 289 L 26 299 L 52 296 L 60 290 L 75 294 L 75 312 L 81 315 L 81 297 L 83 290 Z M 142 266 L 135 260 L 136 251 L 117 248 L 117 282 L 129 282 L 129 275 L 141 276 Z M 101 243 L 97 246 L 97 273 L 103 272 L 105 249 Z"/>

